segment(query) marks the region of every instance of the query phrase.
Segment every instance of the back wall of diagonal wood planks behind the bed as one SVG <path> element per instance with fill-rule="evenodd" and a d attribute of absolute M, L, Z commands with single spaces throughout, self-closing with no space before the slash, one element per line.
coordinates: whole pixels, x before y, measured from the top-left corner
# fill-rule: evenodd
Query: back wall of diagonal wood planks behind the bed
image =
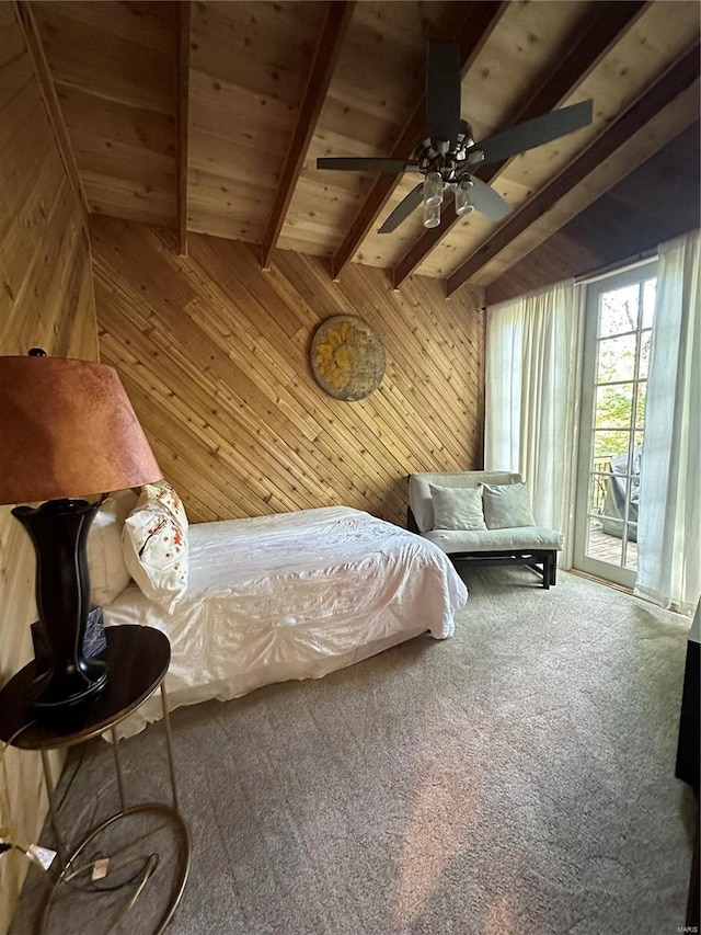
<path fill-rule="evenodd" d="M 405 522 L 406 475 L 482 457 L 482 294 L 446 300 L 414 277 L 394 293 L 354 265 L 91 218 L 102 360 L 119 372 L 194 521 L 348 504 Z M 343 402 L 309 365 L 315 327 L 358 315 L 387 351 L 381 388 Z"/>

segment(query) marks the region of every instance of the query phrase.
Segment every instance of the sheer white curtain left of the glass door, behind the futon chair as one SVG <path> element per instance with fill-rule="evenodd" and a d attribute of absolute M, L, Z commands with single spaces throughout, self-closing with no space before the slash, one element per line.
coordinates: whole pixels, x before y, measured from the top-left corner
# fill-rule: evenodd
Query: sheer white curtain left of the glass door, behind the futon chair
<path fill-rule="evenodd" d="M 583 319 L 574 281 L 487 309 L 484 467 L 518 471 L 536 522 L 565 533 L 572 566 Z"/>

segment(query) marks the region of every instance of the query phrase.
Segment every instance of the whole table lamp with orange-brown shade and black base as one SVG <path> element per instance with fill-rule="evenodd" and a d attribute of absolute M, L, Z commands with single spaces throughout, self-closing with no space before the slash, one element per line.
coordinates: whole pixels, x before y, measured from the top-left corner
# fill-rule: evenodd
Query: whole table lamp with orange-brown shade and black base
<path fill-rule="evenodd" d="M 106 664 L 82 646 L 90 603 L 85 545 L 104 494 L 163 475 L 113 367 L 90 361 L 0 357 L 0 504 L 36 552 L 36 604 L 48 670 L 32 699 L 38 715 L 62 714 L 96 697 Z M 96 502 L 83 497 L 100 494 Z"/>

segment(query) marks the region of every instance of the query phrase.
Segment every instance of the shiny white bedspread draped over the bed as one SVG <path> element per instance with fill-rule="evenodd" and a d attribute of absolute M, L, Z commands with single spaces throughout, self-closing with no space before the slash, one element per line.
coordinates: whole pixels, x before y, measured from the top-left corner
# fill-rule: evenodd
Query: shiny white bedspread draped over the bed
<path fill-rule="evenodd" d="M 345 506 L 192 525 L 189 560 L 172 614 L 135 584 L 104 608 L 107 625 L 170 638 L 171 709 L 320 679 L 426 630 L 444 639 L 468 597 L 437 546 Z M 120 733 L 159 716 L 157 696 Z"/>

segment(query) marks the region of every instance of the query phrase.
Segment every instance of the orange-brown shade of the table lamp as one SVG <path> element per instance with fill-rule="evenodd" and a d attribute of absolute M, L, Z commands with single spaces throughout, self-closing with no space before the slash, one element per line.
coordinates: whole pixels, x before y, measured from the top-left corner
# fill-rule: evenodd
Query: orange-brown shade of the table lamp
<path fill-rule="evenodd" d="M 0 503 L 90 497 L 162 476 L 113 367 L 0 357 Z"/>

